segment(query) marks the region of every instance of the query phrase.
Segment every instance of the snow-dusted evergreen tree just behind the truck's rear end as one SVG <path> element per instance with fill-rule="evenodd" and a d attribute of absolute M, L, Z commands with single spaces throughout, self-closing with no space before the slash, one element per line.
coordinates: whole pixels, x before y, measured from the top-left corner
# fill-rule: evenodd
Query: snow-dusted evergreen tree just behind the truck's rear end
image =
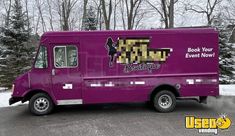
<path fill-rule="evenodd" d="M 235 72 L 235 45 L 229 43 L 232 30 L 228 29 L 228 25 L 220 17 L 213 22 L 213 26 L 219 32 L 219 70 L 220 83 L 234 83 Z"/>

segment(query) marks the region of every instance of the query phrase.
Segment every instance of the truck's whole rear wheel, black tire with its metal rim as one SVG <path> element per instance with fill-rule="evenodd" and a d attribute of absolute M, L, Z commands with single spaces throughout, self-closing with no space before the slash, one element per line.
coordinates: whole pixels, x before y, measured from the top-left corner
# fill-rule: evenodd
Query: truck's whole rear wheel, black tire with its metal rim
<path fill-rule="evenodd" d="M 158 112 L 172 112 L 176 106 L 175 95 L 168 90 L 163 90 L 155 94 L 153 100 L 154 109 Z"/>

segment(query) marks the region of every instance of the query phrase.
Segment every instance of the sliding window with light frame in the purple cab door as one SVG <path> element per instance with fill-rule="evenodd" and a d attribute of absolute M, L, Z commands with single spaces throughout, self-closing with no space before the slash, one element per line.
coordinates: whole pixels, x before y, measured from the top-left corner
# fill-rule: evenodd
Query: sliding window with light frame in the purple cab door
<path fill-rule="evenodd" d="M 76 67 L 78 64 L 76 46 L 56 46 L 54 48 L 54 63 L 56 68 Z"/>

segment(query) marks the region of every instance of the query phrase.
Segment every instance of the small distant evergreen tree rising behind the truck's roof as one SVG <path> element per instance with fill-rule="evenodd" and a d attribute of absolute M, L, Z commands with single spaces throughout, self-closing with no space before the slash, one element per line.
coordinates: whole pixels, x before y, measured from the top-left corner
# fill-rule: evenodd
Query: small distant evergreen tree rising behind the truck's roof
<path fill-rule="evenodd" d="M 86 19 L 84 22 L 85 30 L 97 30 L 97 19 L 95 10 L 92 6 L 87 10 Z"/>

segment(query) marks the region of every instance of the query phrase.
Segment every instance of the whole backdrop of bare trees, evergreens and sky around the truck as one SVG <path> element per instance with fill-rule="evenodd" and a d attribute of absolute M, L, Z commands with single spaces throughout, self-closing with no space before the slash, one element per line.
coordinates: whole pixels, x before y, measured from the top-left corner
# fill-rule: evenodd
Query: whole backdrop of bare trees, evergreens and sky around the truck
<path fill-rule="evenodd" d="M 43 32 L 185 27 L 185 14 L 219 31 L 220 82 L 234 82 L 235 0 L 4 0 L 0 7 L 0 86 L 30 69 Z"/>

